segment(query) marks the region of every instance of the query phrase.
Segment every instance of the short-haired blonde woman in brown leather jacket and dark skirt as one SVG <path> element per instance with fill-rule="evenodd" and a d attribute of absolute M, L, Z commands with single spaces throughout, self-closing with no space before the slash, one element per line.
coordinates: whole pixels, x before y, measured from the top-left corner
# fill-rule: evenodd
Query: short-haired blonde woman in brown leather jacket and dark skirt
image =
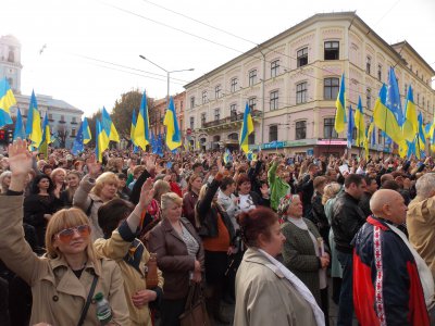
<path fill-rule="evenodd" d="M 162 196 L 162 221 L 151 230 L 148 242 L 164 277 L 161 326 L 179 325 L 189 283 L 202 279 L 202 242 L 194 226 L 182 218 L 182 198 L 174 192 Z"/>

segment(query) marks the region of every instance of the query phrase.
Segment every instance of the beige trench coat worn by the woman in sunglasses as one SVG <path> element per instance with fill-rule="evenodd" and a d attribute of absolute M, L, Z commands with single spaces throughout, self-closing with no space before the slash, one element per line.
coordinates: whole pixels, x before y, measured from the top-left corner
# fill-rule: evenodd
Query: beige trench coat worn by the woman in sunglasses
<path fill-rule="evenodd" d="M 102 292 L 112 308 L 113 322 L 129 325 L 123 279 L 116 262 L 88 261 L 78 279 L 62 259 L 38 258 L 24 240 L 23 196 L 0 196 L 0 259 L 30 287 L 30 325 L 76 325 L 86 302 L 94 273 L 99 276 L 95 293 Z M 102 266 L 101 266 L 102 264 Z M 99 325 L 91 303 L 84 325 Z"/>

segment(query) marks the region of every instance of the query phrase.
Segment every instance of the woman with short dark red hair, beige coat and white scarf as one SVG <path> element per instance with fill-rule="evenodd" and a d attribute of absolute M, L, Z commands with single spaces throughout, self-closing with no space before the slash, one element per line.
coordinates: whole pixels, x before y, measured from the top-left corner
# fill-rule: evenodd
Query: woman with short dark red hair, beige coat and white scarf
<path fill-rule="evenodd" d="M 234 326 L 324 325 L 309 289 L 275 259 L 285 241 L 277 215 L 258 208 L 238 223 L 248 250 L 237 271 Z"/>

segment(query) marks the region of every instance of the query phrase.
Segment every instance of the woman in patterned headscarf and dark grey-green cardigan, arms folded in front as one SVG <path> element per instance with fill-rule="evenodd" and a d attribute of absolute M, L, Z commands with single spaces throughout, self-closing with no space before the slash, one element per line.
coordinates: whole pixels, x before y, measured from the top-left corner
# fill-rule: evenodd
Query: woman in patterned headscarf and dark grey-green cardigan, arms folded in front
<path fill-rule="evenodd" d="M 330 264 L 328 248 L 316 226 L 302 217 L 302 202 L 297 195 L 282 198 L 278 214 L 284 217 L 283 235 L 286 237 L 284 265 L 295 273 L 313 293 L 328 324 L 326 267 Z"/>

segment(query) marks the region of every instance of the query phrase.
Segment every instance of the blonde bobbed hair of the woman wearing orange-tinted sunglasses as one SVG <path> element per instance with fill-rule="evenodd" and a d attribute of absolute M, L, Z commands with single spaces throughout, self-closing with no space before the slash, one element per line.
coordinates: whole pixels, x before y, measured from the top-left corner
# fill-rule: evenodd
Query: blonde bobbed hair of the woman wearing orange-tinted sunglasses
<path fill-rule="evenodd" d="M 46 249 L 47 256 L 49 259 L 63 256 L 63 253 L 57 247 L 54 247 L 54 236 L 65 228 L 75 227 L 78 225 L 89 225 L 90 227 L 89 218 L 80 209 L 73 208 L 67 210 L 60 210 L 54 213 L 53 216 L 51 216 L 46 230 Z M 98 267 L 99 264 L 97 264 L 97 254 L 95 252 L 90 235 L 88 238 L 88 246 L 86 247 L 86 253 L 88 260 L 92 261 L 94 265 Z"/>

